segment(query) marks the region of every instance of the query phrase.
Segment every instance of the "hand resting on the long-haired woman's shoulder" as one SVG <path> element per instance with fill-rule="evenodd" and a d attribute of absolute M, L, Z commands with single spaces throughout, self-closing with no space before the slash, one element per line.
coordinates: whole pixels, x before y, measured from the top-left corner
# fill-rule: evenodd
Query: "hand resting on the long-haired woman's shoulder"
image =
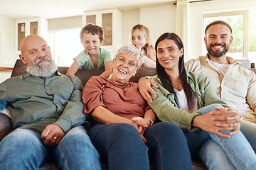
<path fill-rule="evenodd" d="M 146 79 L 145 77 L 142 77 L 138 81 L 139 93 L 149 103 L 153 102 L 153 98 L 151 98 L 150 94 L 156 97 L 156 92 L 151 88 L 151 85 L 155 88 L 159 88 L 153 79 Z"/>

